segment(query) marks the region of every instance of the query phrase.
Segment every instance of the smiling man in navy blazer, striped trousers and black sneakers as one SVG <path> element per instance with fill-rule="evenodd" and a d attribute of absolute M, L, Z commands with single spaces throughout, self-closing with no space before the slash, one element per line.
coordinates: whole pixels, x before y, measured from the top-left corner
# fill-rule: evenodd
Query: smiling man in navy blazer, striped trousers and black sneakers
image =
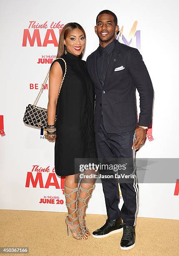
<path fill-rule="evenodd" d="M 118 30 L 116 15 L 109 10 L 100 12 L 95 26 L 99 47 L 87 58 L 87 69 L 96 94 L 94 132 L 97 154 L 102 159 L 133 159 L 133 153 L 146 140 L 147 128 L 152 121 L 154 92 L 149 73 L 139 51 L 116 40 Z M 139 122 L 136 88 L 140 96 Z M 135 169 L 133 174 L 132 183 L 119 182 L 124 200 L 121 211 L 117 179 L 102 179 L 107 220 L 93 232 L 93 237 L 103 238 L 122 231 L 123 227 L 120 243 L 123 250 L 135 246 L 138 209 Z"/>

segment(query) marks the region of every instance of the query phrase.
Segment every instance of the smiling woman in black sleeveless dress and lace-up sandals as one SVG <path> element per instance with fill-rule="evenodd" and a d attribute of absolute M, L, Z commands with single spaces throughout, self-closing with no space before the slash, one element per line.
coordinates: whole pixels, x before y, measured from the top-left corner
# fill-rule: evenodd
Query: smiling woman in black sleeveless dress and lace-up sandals
<path fill-rule="evenodd" d="M 55 139 L 55 172 L 65 178 L 65 200 L 68 216 L 65 219 L 75 239 L 86 240 L 90 235 L 85 212 L 94 187 L 75 170 L 75 158 L 96 158 L 93 130 L 94 85 L 86 62 L 82 60 L 86 43 L 85 31 L 78 23 L 67 23 L 60 34 L 57 58 L 50 68 L 47 135 Z M 65 79 L 60 84 L 65 74 Z M 60 90 L 60 95 L 58 97 Z M 55 115 L 57 115 L 55 124 Z"/>

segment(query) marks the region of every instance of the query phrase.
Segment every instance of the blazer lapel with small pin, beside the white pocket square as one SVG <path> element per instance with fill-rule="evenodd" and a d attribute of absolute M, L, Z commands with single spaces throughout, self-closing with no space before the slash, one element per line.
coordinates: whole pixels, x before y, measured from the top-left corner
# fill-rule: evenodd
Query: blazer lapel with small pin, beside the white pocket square
<path fill-rule="evenodd" d="M 120 52 L 120 43 L 117 41 L 114 51 L 112 52 L 111 59 L 109 61 L 109 66 L 106 73 L 106 78 L 104 81 L 104 87 L 107 86 L 112 74 L 114 73 L 115 67 L 118 67 L 119 61 L 122 59 L 123 54 Z"/>

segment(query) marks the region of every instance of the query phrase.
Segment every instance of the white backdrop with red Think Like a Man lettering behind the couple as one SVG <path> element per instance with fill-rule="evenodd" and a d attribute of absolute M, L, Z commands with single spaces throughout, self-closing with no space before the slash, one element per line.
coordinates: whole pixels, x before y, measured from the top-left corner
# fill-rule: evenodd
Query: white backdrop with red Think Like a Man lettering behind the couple
<path fill-rule="evenodd" d="M 1 209 L 67 211 L 64 179 L 54 171 L 55 143 L 45 139 L 43 129 L 29 127 L 22 119 L 56 57 L 64 24 L 77 22 L 85 29 L 86 60 L 99 45 L 94 26 L 104 9 L 117 15 L 117 39 L 139 49 L 154 87 L 152 128 L 137 158 L 179 157 L 177 1 L 1 0 Z M 47 108 L 47 102 L 48 82 L 38 105 Z M 138 95 L 137 105 L 139 114 Z M 173 183 L 139 184 L 138 216 L 177 219 L 178 194 L 177 177 Z M 119 207 L 122 202 L 121 197 Z M 96 185 L 87 213 L 106 214 L 101 184 Z"/>

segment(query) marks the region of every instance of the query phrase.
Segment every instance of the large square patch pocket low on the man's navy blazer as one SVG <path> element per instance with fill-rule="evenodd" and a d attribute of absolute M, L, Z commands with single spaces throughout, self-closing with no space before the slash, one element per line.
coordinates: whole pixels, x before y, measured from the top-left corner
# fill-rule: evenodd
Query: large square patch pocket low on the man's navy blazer
<path fill-rule="evenodd" d="M 115 123 L 119 127 L 134 125 L 137 122 L 136 101 L 119 102 L 114 105 Z"/>

